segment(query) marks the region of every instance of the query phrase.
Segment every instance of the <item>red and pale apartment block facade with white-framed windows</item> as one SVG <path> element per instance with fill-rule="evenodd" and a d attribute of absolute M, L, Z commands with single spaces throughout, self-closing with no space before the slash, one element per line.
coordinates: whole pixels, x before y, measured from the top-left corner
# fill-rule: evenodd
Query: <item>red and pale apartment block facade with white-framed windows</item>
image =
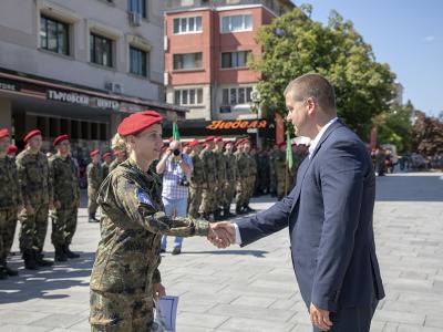
<path fill-rule="evenodd" d="M 282 0 L 165 0 L 166 101 L 188 107 L 194 127 L 260 118 L 260 110 L 251 112 L 260 75 L 248 60 L 261 55 L 258 30 L 292 8 Z"/>

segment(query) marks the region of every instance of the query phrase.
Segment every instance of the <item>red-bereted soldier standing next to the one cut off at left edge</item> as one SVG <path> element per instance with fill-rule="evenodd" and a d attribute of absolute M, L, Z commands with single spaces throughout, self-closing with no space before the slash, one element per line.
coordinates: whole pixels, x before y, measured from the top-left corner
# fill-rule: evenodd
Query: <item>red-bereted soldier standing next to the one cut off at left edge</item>
<path fill-rule="evenodd" d="M 20 250 L 24 267 L 37 270 L 39 266 L 52 266 L 43 259 L 43 245 L 48 229 L 48 212 L 53 208 L 53 187 L 48 157 L 41 152 L 42 134 L 29 132 L 23 142 L 25 148 L 17 156 L 19 183 L 25 211 L 20 214 Z"/>

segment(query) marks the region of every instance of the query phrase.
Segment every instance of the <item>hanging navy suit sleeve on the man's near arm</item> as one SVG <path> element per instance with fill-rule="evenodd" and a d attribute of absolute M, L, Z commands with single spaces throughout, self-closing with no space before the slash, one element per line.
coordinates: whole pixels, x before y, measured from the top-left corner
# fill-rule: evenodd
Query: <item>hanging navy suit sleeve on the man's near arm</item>
<path fill-rule="evenodd" d="M 324 221 L 317 255 L 312 303 L 337 311 L 337 302 L 354 246 L 365 172 L 358 143 L 338 142 L 328 148 L 320 167 Z"/>

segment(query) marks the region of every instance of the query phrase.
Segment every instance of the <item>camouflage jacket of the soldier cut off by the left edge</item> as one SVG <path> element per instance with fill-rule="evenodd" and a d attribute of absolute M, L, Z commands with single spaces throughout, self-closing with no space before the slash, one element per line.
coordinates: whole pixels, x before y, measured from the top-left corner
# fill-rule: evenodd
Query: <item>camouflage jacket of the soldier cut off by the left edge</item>
<path fill-rule="evenodd" d="M 14 160 L 4 156 L 0 159 L 0 210 L 23 205 Z"/>

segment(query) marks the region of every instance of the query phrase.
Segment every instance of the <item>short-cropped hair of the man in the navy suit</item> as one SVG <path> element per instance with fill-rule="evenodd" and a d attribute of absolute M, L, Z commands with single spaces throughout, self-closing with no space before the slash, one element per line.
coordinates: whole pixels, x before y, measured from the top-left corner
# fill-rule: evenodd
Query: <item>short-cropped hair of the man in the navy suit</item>
<path fill-rule="evenodd" d="M 296 101 L 312 97 L 323 112 L 336 111 L 333 86 L 320 74 L 309 73 L 291 81 L 285 89 L 285 96 L 292 93 Z"/>

